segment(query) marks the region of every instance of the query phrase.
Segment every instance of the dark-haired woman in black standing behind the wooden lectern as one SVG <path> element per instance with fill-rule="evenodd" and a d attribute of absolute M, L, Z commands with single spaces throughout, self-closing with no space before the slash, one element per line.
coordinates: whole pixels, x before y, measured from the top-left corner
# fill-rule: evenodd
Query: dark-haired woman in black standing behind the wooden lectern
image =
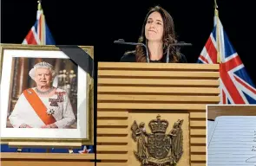
<path fill-rule="evenodd" d="M 147 46 L 150 62 L 187 63 L 179 48 L 171 46 L 177 42 L 174 21 L 167 10 L 160 6 L 149 10 L 138 42 Z M 146 62 L 146 55 L 146 48 L 137 45 L 134 51 L 126 52 L 121 57 L 121 62 Z"/>

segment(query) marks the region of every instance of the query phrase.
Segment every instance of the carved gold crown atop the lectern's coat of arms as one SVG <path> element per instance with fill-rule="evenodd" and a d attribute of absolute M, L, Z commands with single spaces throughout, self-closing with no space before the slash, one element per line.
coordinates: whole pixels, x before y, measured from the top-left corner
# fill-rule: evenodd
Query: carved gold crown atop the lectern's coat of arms
<path fill-rule="evenodd" d="M 155 132 L 166 132 L 167 131 L 167 127 L 168 127 L 169 123 L 167 122 L 167 120 L 161 119 L 161 116 L 158 115 L 156 117 L 156 119 L 151 120 L 148 123 L 148 126 L 150 127 L 151 131 L 153 133 Z"/>

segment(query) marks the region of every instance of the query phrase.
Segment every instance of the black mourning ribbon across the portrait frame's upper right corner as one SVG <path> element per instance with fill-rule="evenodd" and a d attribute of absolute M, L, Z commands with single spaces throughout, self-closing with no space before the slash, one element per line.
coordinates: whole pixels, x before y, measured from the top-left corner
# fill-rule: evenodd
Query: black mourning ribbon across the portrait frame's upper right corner
<path fill-rule="evenodd" d="M 94 78 L 94 60 L 92 57 L 86 53 L 82 48 L 75 45 L 56 45 L 57 48 L 69 56 L 71 61 L 74 61 L 79 67 L 89 73 L 89 75 Z"/>

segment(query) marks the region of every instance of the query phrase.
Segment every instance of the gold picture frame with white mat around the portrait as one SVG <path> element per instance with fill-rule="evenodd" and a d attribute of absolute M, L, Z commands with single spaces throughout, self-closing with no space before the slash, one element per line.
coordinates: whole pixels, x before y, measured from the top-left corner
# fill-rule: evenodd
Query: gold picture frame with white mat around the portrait
<path fill-rule="evenodd" d="M 94 59 L 94 47 L 93 46 L 79 46 L 79 48 L 82 48 L 82 50 L 84 50 L 87 54 L 89 54 L 89 56 Z M 14 64 L 14 57 L 9 57 L 11 56 L 11 52 L 13 52 L 12 54 L 20 54 L 19 56 L 16 56 L 16 57 L 23 57 L 23 54 L 30 54 L 28 55 L 26 58 L 30 59 L 32 57 L 32 54 L 36 54 L 36 52 L 38 52 L 38 54 L 43 54 L 45 52 L 47 52 L 47 54 L 62 54 L 62 56 L 65 56 L 65 54 L 62 52 L 62 50 L 60 48 L 57 48 L 56 46 L 54 45 L 23 45 L 23 44 L 0 44 L 0 52 L 1 52 L 1 56 L 0 56 L 0 86 L 1 86 L 1 89 L 3 89 L 3 86 L 4 85 L 8 85 L 8 83 L 6 83 L 6 81 L 10 80 L 10 83 L 12 85 L 12 77 L 13 77 L 13 71 L 10 71 L 10 70 L 14 70 L 13 67 L 15 67 L 15 64 Z M 9 54 L 7 54 L 9 53 Z M 58 59 L 57 58 L 58 55 L 55 56 L 55 59 Z M 24 58 L 24 57 L 23 57 Z M 33 58 L 33 57 L 32 57 Z M 52 58 L 53 57 L 40 57 L 39 55 L 35 55 L 34 58 Z M 10 60 L 11 59 L 11 60 Z M 62 58 L 59 58 L 59 59 L 62 59 Z M 67 56 L 66 57 L 66 60 L 69 60 L 69 57 Z M 7 68 L 3 68 L 3 67 L 7 67 L 9 66 L 7 63 L 10 63 L 11 61 L 11 67 L 9 67 L 9 69 Z M 35 59 L 33 59 L 33 61 L 35 61 Z M 6 64 L 4 64 L 6 63 Z M 30 66 L 32 66 L 30 64 Z M 78 65 L 76 65 L 77 68 Z M 28 71 L 28 67 L 24 67 L 26 68 L 26 70 Z M 77 69 L 77 71 L 81 69 Z M 8 71 L 10 74 L 10 77 L 9 79 L 8 78 L 3 78 L 6 76 L 6 72 Z M 84 71 L 84 70 L 82 70 Z M 78 73 L 78 72 L 77 72 Z M 79 73 L 80 74 L 80 73 Z M 7 134 L 7 132 L 10 132 L 10 131 L 18 131 L 18 130 L 27 130 L 26 133 L 27 133 L 27 136 L 30 135 L 30 130 L 32 129 L 21 129 L 21 128 L 8 128 L 7 125 L 3 126 L 4 123 L 1 123 L 1 142 L 2 144 L 3 143 L 10 143 L 10 142 L 36 142 L 36 143 L 49 143 L 49 144 L 52 144 L 52 143 L 77 143 L 77 144 L 82 144 L 82 145 L 93 145 L 94 144 L 94 79 L 89 75 L 89 73 L 82 73 L 79 75 L 77 74 L 77 77 L 78 78 L 81 78 L 82 76 L 86 77 L 86 78 L 83 78 L 81 80 L 86 80 L 86 82 L 79 82 L 79 79 L 77 80 L 77 87 L 79 86 L 79 84 L 81 84 L 82 86 L 84 86 L 84 84 L 86 84 L 86 87 L 84 87 L 84 89 L 86 89 L 86 93 L 84 93 L 85 97 L 84 99 L 86 99 L 86 102 L 82 102 L 82 104 L 86 104 L 86 105 L 83 105 L 84 108 L 85 108 L 85 113 L 83 113 L 84 115 L 86 115 L 85 117 L 83 118 L 80 118 L 79 119 L 79 123 L 78 124 L 78 117 L 76 118 L 76 128 L 74 129 L 74 133 L 76 133 L 76 137 L 69 137 L 67 135 L 69 135 L 69 132 L 70 132 L 70 136 L 71 134 L 73 133 L 73 131 L 71 132 L 71 130 L 73 129 L 59 129 L 60 133 L 58 133 L 58 137 L 53 137 L 55 134 L 54 134 L 54 131 L 47 131 L 47 130 L 54 130 L 54 129 L 41 129 L 41 128 L 38 128 L 38 129 L 33 129 L 34 131 L 36 131 L 37 134 L 42 134 L 43 137 L 35 137 L 36 134 L 34 134 L 34 137 L 18 137 L 16 134 L 16 136 L 9 136 L 9 134 Z M 4 83 L 4 85 L 3 85 Z M 3 99 L 4 97 L 6 97 L 6 95 L 9 96 L 8 99 L 5 99 L 4 101 L 7 102 L 6 100 L 8 100 L 8 106 L 5 106 L 5 109 L 2 108 L 2 104 L 1 104 L 1 120 L 4 120 L 3 118 L 3 115 L 6 115 L 4 112 L 7 112 L 8 110 L 6 110 L 6 108 L 10 108 L 10 92 L 12 90 L 12 86 L 10 85 L 10 88 L 9 90 L 5 90 L 4 92 L 1 91 L 1 98 Z M 81 85 L 79 86 L 79 88 L 81 87 Z M 6 89 L 6 88 L 5 88 Z M 9 93 L 7 94 L 6 91 L 8 91 Z M 77 90 L 77 93 L 79 93 L 79 91 Z M 83 93 L 79 93 L 79 94 L 83 94 Z M 77 94 L 77 101 L 76 103 L 78 102 L 78 94 Z M 82 97 L 81 97 L 82 98 Z M 84 101 L 84 100 L 83 100 Z M 1 101 L 2 103 L 2 101 Z M 81 105 L 82 105 L 81 104 Z M 5 105 L 5 104 L 4 104 Z M 80 106 L 81 106 L 80 105 Z M 82 114 L 82 111 L 80 109 L 80 106 L 77 104 L 77 113 L 80 112 Z M 80 110 L 79 110 L 80 109 Z M 8 114 L 7 114 L 8 115 Z M 78 114 L 77 114 L 78 115 Z M 86 122 L 84 122 L 84 120 Z M 7 123 L 7 120 L 6 120 L 6 123 Z M 83 126 L 86 125 L 86 129 L 84 131 Z M 78 129 L 78 126 L 80 127 Z M 45 130 L 45 131 L 43 131 Z M 55 129 L 57 130 L 57 129 Z M 65 131 L 66 130 L 66 131 Z M 82 131 L 83 130 L 83 131 Z M 69 132 L 67 132 L 69 131 Z M 5 132 L 5 133 L 4 133 Z M 45 135 L 43 135 L 43 132 Z M 17 132 L 17 133 L 21 133 L 21 132 Z M 48 133 L 51 133 L 50 137 L 47 137 L 47 134 Z M 80 135 L 82 135 L 82 133 L 85 133 L 86 134 L 86 137 L 78 137 Z M 11 135 L 11 134 L 10 134 Z M 12 134 L 12 135 L 15 135 L 15 134 Z M 24 134 L 25 135 L 25 134 Z M 8 137 L 9 136 L 9 137 Z M 61 137 L 59 137 L 61 136 Z M 62 137 L 62 136 L 65 136 L 65 137 Z"/>

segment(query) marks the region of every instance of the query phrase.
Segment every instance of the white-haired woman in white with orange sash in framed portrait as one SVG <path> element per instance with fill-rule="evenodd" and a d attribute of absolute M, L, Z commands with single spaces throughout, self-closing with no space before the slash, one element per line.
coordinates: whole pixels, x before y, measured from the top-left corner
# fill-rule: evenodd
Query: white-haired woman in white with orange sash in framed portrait
<path fill-rule="evenodd" d="M 69 128 L 75 114 L 66 90 L 56 85 L 58 78 L 48 62 L 36 63 L 30 69 L 36 86 L 23 90 L 8 117 L 13 128 Z"/>

